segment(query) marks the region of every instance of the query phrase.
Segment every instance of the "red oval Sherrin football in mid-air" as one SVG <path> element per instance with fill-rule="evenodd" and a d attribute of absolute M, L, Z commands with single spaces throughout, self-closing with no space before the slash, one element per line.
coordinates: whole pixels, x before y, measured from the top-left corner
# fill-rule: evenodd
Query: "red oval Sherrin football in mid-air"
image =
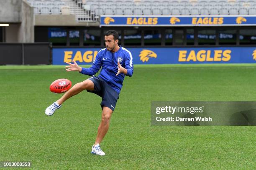
<path fill-rule="evenodd" d="M 50 91 L 55 93 L 64 93 L 67 92 L 67 90 L 69 90 L 71 86 L 72 82 L 70 80 L 61 78 L 51 83 Z"/>

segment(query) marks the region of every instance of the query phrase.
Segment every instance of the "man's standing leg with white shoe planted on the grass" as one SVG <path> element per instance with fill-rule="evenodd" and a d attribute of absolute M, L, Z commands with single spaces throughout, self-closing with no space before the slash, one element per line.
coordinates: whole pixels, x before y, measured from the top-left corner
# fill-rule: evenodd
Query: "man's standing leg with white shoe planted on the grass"
<path fill-rule="evenodd" d="M 105 155 L 105 153 L 100 149 L 100 142 L 102 141 L 102 139 L 108 132 L 110 117 L 111 117 L 112 113 L 113 113 L 113 110 L 111 110 L 108 107 L 103 106 L 101 122 L 98 127 L 97 137 L 96 137 L 94 145 L 92 146 L 91 153 L 94 153 L 96 155 L 101 155 L 101 156 Z"/>

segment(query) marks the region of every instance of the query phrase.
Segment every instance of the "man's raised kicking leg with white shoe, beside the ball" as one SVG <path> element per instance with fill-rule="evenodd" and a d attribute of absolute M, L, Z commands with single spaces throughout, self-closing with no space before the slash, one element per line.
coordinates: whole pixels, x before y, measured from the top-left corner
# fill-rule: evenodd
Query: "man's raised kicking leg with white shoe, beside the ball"
<path fill-rule="evenodd" d="M 83 90 L 93 90 L 94 84 L 92 80 L 84 80 L 83 82 L 79 82 L 71 87 L 59 100 L 51 104 L 49 107 L 46 108 L 45 114 L 51 116 L 54 114 L 55 110 L 61 107 L 61 104 L 65 102 L 67 99 L 72 97 L 73 95 L 77 95 L 79 92 Z"/>

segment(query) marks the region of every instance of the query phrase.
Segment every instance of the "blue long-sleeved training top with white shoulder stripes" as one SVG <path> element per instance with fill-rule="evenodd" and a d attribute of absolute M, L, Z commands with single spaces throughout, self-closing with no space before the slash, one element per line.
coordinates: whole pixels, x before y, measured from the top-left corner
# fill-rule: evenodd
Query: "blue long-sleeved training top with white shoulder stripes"
<path fill-rule="evenodd" d="M 116 52 L 110 52 L 107 48 L 100 50 L 90 68 L 82 68 L 81 73 L 85 75 L 95 75 L 100 67 L 100 75 L 98 77 L 105 80 L 118 94 L 123 86 L 124 73 L 118 72 L 118 61 L 120 65 L 127 69 L 127 76 L 133 75 L 133 57 L 131 52 L 119 45 L 120 49 Z"/>

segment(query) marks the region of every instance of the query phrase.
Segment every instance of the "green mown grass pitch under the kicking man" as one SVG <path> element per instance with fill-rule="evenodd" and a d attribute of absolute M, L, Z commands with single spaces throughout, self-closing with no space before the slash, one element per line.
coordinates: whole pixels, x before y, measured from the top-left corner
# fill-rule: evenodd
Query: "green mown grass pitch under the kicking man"
<path fill-rule="evenodd" d="M 44 114 L 61 97 L 51 82 L 88 77 L 64 66 L 0 66 L 0 161 L 38 170 L 256 169 L 255 126 L 151 126 L 152 100 L 255 101 L 255 64 L 135 65 L 101 143 L 105 157 L 90 154 L 100 97 L 84 91 Z"/>

